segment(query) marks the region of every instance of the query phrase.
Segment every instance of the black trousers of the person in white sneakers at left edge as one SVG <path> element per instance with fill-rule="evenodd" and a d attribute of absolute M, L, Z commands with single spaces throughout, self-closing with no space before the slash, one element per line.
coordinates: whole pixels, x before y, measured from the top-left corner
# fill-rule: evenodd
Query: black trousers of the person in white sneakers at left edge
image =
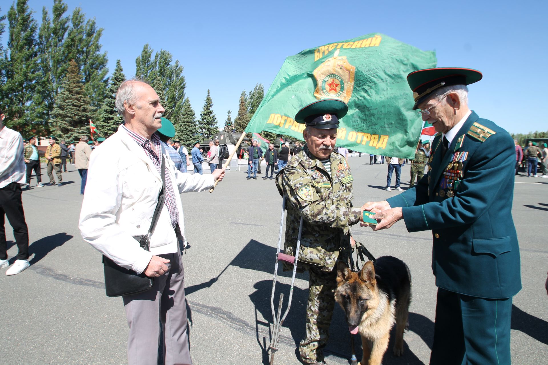
<path fill-rule="evenodd" d="M 4 215 L 8 217 L 12 225 L 13 235 L 17 248 L 19 248 L 18 260 L 28 259 L 28 229 L 25 222 L 25 212 L 21 201 L 21 186 L 19 183 L 11 183 L 0 188 L 0 260 L 8 258 L 8 247 L 5 241 Z"/>

